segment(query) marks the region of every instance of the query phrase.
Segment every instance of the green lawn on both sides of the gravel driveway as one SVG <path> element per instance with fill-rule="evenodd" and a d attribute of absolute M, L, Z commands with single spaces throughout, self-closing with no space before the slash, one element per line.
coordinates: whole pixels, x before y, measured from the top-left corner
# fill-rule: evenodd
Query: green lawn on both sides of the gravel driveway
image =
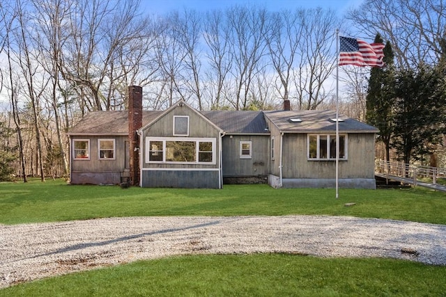
<path fill-rule="evenodd" d="M 114 216 L 358 216 L 446 225 L 446 193 L 387 190 L 222 190 L 0 183 L 0 223 Z M 345 207 L 347 202 L 355 202 Z M 0 271 L 1 276 L 1 271 Z M 1 289 L 0 296 L 446 296 L 446 266 L 392 259 L 201 255 L 73 273 Z"/>

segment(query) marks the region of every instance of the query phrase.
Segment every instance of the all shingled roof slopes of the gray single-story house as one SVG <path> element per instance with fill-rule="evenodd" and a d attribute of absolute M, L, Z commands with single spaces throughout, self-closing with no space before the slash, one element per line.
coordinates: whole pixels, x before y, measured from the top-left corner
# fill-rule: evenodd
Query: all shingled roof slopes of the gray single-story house
<path fill-rule="evenodd" d="M 143 127 L 162 111 L 143 111 Z M 200 111 L 226 134 L 269 134 L 265 116 L 284 133 L 332 133 L 334 111 Z M 343 133 L 377 133 L 378 129 L 339 115 Z M 128 135 L 128 111 L 93 111 L 70 129 L 68 135 Z"/>

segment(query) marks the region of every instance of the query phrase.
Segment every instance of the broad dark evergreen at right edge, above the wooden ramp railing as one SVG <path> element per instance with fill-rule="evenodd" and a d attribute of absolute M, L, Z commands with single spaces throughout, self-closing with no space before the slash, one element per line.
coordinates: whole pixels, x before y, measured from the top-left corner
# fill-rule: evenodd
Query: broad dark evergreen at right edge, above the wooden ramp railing
<path fill-rule="evenodd" d="M 440 67 L 427 65 L 397 74 L 392 147 L 404 163 L 430 154 L 445 133 L 443 79 Z"/>

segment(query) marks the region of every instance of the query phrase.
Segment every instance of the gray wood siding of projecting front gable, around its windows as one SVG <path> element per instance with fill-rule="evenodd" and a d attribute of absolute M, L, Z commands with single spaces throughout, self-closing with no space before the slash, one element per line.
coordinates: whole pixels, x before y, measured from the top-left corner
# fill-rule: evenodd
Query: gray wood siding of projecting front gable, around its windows
<path fill-rule="evenodd" d="M 187 136 L 174 135 L 174 116 L 188 117 Z M 176 104 L 160 118 L 141 129 L 141 186 L 175 188 L 219 188 L 220 176 L 220 130 L 190 108 Z M 207 141 L 213 142 L 213 162 L 150 161 L 150 141 Z M 167 154 L 163 152 L 163 154 Z M 167 158 L 167 156 L 164 156 Z"/>

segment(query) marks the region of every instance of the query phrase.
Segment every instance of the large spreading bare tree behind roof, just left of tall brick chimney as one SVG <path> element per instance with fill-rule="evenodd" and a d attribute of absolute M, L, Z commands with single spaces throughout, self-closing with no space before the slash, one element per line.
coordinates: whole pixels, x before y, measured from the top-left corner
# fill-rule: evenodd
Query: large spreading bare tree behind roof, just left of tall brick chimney
<path fill-rule="evenodd" d="M 111 109 L 118 54 L 134 38 L 140 38 L 137 15 L 139 1 L 76 2 L 70 12 L 69 28 L 62 51 L 63 78 L 78 87 L 82 107 L 88 110 Z M 120 72 L 121 73 L 121 72 Z M 89 101 L 88 96 L 93 100 Z"/>

